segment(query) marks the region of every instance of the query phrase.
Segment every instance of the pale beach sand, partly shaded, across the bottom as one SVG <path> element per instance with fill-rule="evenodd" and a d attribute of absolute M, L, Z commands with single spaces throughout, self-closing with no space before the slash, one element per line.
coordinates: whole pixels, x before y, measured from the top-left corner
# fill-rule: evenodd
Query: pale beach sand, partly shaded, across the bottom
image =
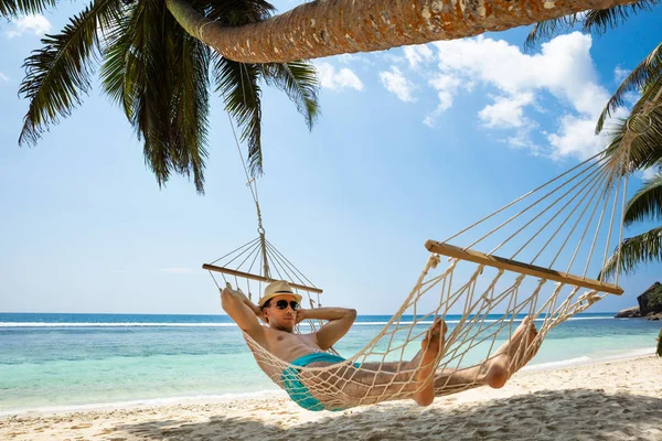
<path fill-rule="evenodd" d="M 310 412 L 281 392 L 0 417 L 0 440 L 662 440 L 662 359 L 517 373 L 502 389 Z"/>

